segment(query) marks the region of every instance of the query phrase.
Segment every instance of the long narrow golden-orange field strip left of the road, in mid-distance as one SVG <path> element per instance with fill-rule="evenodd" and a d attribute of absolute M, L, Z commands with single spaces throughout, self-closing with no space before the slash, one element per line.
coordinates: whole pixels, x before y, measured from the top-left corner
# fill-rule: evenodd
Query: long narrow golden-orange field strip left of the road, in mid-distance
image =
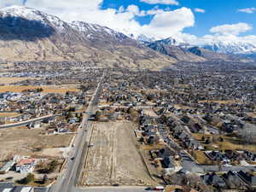
<path fill-rule="evenodd" d="M 38 89 L 38 88 L 43 88 L 43 93 L 66 93 L 67 91 L 79 91 L 76 88 L 66 88 L 63 86 L 16 86 L 16 85 L 11 85 L 11 86 L 0 86 L 0 92 L 22 92 L 22 90 L 32 90 L 32 89 Z"/>

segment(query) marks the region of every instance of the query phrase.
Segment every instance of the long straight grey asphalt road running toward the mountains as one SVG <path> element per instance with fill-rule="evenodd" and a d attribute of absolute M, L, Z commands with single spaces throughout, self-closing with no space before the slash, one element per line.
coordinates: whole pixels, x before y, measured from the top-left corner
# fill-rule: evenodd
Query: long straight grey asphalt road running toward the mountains
<path fill-rule="evenodd" d="M 96 104 L 99 99 L 100 92 L 102 90 L 102 80 L 105 74 L 102 75 L 102 79 L 97 85 L 94 96 L 91 98 L 87 113 L 84 115 L 82 121 L 82 129 L 79 131 L 78 136 L 75 139 L 75 147 L 73 148 L 72 157 L 67 161 L 67 170 L 60 177 L 58 177 L 56 183 L 49 189 L 49 192 L 71 192 L 76 191 L 76 185 L 79 182 L 80 172 L 84 165 L 84 155 L 87 153 L 86 137 L 91 129 L 91 122 L 89 121 L 90 114 L 96 108 Z"/>

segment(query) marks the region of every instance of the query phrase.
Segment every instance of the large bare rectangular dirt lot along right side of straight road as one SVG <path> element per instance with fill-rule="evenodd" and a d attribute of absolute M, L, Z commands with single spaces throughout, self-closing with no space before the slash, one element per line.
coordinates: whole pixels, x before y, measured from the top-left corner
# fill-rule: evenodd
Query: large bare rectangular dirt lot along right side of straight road
<path fill-rule="evenodd" d="M 143 160 L 135 146 L 135 124 L 131 122 L 96 123 L 92 133 L 84 185 L 150 185 Z"/>

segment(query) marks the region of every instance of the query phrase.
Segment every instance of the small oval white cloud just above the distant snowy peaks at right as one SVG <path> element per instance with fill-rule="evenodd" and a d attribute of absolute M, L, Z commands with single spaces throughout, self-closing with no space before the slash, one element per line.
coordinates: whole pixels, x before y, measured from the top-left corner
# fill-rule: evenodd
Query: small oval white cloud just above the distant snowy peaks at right
<path fill-rule="evenodd" d="M 253 26 L 247 23 L 237 23 L 231 25 L 214 26 L 210 29 L 212 33 L 218 33 L 220 35 L 239 35 L 241 32 L 247 32 L 252 30 Z"/>

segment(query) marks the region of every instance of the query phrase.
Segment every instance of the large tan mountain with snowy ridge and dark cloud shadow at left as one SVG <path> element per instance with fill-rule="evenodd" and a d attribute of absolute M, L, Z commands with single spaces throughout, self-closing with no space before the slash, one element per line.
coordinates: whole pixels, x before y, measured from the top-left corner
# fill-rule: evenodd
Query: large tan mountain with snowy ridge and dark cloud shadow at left
<path fill-rule="evenodd" d="M 22 6 L 0 9 L 0 28 L 0 61 L 86 61 L 95 67 L 145 68 L 176 61 L 106 26 L 68 23 Z"/>

